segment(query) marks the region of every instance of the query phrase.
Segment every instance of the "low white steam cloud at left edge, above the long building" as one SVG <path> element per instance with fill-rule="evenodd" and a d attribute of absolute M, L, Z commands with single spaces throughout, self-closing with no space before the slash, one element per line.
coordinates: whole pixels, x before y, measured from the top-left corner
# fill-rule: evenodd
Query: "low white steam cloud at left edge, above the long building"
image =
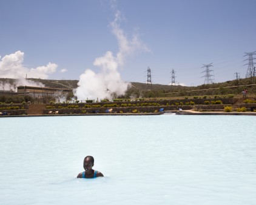
<path fill-rule="evenodd" d="M 25 79 L 28 78 L 48 78 L 49 74 L 56 72 L 58 65 L 54 63 L 47 64 L 47 66 L 39 66 L 35 69 L 29 69 L 23 66 L 24 52 L 18 50 L 10 55 L 5 55 L 1 59 L 0 56 L 0 76 L 1 78 L 15 78 L 16 86 L 44 86 L 39 82 L 34 82 Z M 8 85 L 5 85 L 5 87 Z"/>

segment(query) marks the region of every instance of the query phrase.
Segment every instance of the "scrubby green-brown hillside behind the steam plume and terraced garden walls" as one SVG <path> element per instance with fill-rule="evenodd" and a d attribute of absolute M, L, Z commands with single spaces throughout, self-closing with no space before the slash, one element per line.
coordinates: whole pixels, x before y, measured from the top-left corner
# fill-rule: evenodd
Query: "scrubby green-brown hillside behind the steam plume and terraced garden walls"
<path fill-rule="evenodd" d="M 30 81 L 41 82 L 45 87 L 70 88 L 77 87 L 78 80 L 55 80 L 55 79 L 35 79 Z M 246 86 L 254 84 L 255 80 L 251 78 L 219 82 L 214 84 L 202 84 L 200 86 L 167 86 L 161 84 L 147 85 L 141 82 L 131 82 L 132 86 L 127 90 L 124 98 L 155 98 L 164 96 L 195 96 L 195 95 L 226 95 L 241 93 L 243 89 L 248 89 L 249 93 L 256 92 L 256 86 Z M 237 87 L 239 86 L 239 87 Z M 0 90 L 14 90 L 15 79 L 0 78 Z M 2 89 L 4 88 L 4 89 Z M 116 96 L 117 97 L 117 96 Z"/>

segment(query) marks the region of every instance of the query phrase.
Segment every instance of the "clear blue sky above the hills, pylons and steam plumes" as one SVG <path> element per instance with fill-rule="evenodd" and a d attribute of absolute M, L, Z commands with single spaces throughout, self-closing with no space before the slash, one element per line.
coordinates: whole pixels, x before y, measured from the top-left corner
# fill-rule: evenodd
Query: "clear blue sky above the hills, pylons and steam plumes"
<path fill-rule="evenodd" d="M 235 72 L 245 78 L 244 52 L 256 50 L 255 10 L 255 0 L 0 0 L 0 62 L 21 51 L 26 69 L 56 64 L 45 78 L 100 72 L 95 59 L 120 51 L 112 25 L 119 12 L 118 31 L 130 42 L 136 36 L 135 47 L 140 42 L 124 49 L 124 81 L 146 82 L 149 66 L 152 83 L 169 84 L 174 69 L 176 82 L 197 86 L 204 83 L 202 64 L 210 63 L 215 82 L 235 79 Z M 12 70 L 13 63 L 5 65 Z"/>

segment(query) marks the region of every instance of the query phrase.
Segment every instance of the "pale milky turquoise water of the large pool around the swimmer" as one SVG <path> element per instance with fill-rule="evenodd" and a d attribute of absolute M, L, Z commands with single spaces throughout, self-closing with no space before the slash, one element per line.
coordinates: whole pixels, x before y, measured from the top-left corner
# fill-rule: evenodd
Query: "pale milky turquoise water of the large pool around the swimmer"
<path fill-rule="evenodd" d="M 255 116 L 0 118 L 0 204 L 256 204 Z M 76 179 L 86 155 L 104 178 Z"/>

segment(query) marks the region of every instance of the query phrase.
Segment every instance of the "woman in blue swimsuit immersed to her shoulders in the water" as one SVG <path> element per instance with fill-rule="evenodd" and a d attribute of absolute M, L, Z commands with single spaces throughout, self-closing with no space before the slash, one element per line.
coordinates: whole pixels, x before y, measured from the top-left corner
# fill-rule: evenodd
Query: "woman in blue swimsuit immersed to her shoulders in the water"
<path fill-rule="evenodd" d="M 93 165 L 93 156 L 86 156 L 86 158 L 84 158 L 84 170 L 86 171 L 79 173 L 77 178 L 95 178 L 98 176 L 103 176 L 101 172 L 92 169 Z"/>

